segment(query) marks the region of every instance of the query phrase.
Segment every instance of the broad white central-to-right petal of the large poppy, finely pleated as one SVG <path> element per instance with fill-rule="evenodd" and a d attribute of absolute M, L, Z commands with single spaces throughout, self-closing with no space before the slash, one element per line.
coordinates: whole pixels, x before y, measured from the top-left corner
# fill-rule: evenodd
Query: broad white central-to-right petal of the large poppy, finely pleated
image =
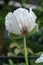
<path fill-rule="evenodd" d="M 13 15 L 16 16 L 16 19 L 21 26 L 26 26 L 28 28 L 29 32 L 36 25 L 36 15 L 32 11 L 28 12 L 28 10 L 26 9 L 19 8 L 16 11 L 14 11 Z"/>

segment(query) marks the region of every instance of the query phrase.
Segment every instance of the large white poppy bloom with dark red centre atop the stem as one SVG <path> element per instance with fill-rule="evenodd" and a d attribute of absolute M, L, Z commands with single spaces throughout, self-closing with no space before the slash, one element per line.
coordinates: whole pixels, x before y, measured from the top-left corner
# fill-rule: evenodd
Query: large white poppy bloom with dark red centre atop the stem
<path fill-rule="evenodd" d="M 5 27 L 11 33 L 26 34 L 31 32 L 37 25 L 35 22 L 36 18 L 31 8 L 29 12 L 25 8 L 18 8 L 13 13 L 9 12 L 7 14 L 5 17 Z"/>

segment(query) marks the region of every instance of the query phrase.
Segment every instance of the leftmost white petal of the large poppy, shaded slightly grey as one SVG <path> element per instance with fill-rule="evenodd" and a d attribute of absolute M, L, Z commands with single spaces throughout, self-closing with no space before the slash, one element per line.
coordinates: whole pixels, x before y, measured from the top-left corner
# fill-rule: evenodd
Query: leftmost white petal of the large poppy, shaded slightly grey
<path fill-rule="evenodd" d="M 21 34 L 20 27 L 16 21 L 16 18 L 13 16 L 12 13 L 8 13 L 8 15 L 6 16 L 5 26 L 9 32 L 12 32 L 15 34 Z"/>

